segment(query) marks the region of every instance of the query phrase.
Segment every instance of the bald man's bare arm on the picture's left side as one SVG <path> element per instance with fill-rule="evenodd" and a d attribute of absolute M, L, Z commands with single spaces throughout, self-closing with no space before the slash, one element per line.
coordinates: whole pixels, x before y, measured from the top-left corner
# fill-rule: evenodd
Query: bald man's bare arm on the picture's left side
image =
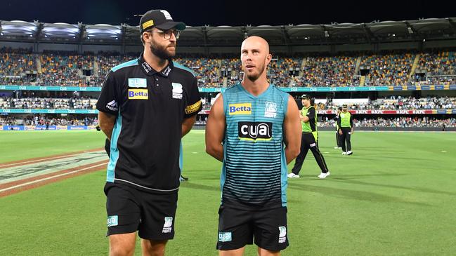
<path fill-rule="evenodd" d="M 223 137 L 226 117 L 223 113 L 223 97 L 219 93 L 211 107 L 206 124 L 206 152 L 215 159 L 223 161 Z"/>

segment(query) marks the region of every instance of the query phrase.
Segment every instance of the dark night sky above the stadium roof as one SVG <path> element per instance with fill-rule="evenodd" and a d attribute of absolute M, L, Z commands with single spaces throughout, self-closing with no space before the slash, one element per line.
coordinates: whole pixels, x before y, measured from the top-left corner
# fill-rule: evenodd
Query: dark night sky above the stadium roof
<path fill-rule="evenodd" d="M 161 2 L 160 4 L 157 4 Z M 0 20 L 138 25 L 150 9 L 166 9 L 187 25 L 288 25 L 456 17 L 456 1 L 1 1 Z M 135 3 L 135 4 L 131 4 Z M 300 4 L 294 4 L 300 3 Z"/>

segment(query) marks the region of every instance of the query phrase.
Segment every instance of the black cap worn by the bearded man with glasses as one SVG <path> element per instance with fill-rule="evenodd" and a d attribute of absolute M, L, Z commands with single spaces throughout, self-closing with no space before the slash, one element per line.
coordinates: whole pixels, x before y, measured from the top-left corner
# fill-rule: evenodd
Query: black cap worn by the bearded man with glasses
<path fill-rule="evenodd" d="M 185 23 L 176 22 L 166 10 L 150 10 L 144 13 L 139 21 L 139 32 L 143 34 L 145 30 L 157 27 L 157 29 L 168 30 L 176 27 L 178 30 L 185 29 Z"/>

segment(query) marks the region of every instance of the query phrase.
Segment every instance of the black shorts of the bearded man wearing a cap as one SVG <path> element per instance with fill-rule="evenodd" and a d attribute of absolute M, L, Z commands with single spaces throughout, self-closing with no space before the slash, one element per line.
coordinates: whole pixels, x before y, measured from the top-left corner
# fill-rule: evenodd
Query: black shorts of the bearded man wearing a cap
<path fill-rule="evenodd" d="M 149 240 L 174 238 L 174 217 L 177 191 L 172 194 L 152 194 L 124 184 L 105 185 L 108 234 L 139 231 L 139 237 Z"/>

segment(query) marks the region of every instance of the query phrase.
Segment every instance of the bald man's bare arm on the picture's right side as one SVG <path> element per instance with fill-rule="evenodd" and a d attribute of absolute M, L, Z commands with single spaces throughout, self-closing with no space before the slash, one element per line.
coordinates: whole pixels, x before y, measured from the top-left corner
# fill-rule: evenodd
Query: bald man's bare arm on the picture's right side
<path fill-rule="evenodd" d="M 288 97 L 287 114 L 283 122 L 285 131 L 285 158 L 287 164 L 293 161 L 301 150 L 301 122 L 299 119 L 299 110 L 293 97 Z"/>

